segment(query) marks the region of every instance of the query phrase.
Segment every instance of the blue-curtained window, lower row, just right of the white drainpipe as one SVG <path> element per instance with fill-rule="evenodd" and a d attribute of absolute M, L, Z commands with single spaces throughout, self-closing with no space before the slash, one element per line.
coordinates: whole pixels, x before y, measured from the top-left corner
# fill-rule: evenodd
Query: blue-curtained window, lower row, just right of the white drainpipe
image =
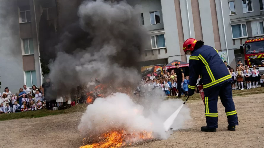
<path fill-rule="evenodd" d="M 233 39 L 247 37 L 246 23 L 231 25 L 231 30 Z"/>

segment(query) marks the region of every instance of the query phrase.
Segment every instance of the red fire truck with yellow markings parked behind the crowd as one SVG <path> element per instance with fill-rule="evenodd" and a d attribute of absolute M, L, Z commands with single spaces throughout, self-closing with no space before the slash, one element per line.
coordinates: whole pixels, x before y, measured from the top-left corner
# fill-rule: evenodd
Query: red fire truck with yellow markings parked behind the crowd
<path fill-rule="evenodd" d="M 244 46 L 244 50 L 243 50 Z M 252 70 L 252 66 L 256 65 L 256 69 L 260 74 L 264 74 L 264 37 L 249 38 L 245 41 L 245 44 L 240 46 L 240 51 L 245 54 L 245 65 L 249 66 Z"/>

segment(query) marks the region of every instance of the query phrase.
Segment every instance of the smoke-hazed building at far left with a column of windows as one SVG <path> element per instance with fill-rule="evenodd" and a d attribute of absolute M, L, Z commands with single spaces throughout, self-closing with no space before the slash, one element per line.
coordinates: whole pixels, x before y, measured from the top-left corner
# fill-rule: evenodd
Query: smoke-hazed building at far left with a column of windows
<path fill-rule="evenodd" d="M 27 85 L 41 86 L 38 26 L 41 13 L 47 14 L 56 26 L 55 0 L 1 0 L 0 69 L 1 92 L 9 87 L 12 93 Z"/>

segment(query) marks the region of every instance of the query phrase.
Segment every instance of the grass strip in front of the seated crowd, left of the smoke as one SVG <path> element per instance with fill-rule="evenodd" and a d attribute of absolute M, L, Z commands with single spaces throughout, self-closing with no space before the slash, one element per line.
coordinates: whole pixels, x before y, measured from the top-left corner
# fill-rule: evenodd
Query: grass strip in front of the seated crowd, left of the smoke
<path fill-rule="evenodd" d="M 76 105 L 66 110 L 53 111 L 53 110 L 43 109 L 43 110 L 37 110 L 37 111 L 1 114 L 0 121 L 19 119 L 19 118 L 39 118 L 39 117 L 45 117 L 48 115 L 67 114 L 67 113 L 72 113 L 72 112 L 85 112 L 86 107 L 87 107 L 87 104 L 79 104 L 79 105 Z"/>

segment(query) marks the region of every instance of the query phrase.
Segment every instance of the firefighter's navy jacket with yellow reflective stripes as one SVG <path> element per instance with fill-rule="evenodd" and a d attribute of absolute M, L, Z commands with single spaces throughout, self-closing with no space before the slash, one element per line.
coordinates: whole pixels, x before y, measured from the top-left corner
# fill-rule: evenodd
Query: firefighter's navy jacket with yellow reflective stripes
<path fill-rule="evenodd" d="M 200 82 L 203 83 L 203 89 L 221 86 L 233 81 L 218 51 L 211 46 L 203 45 L 193 51 L 190 56 L 189 69 L 190 83 L 188 92 L 192 94 L 199 75 L 201 77 Z"/>

